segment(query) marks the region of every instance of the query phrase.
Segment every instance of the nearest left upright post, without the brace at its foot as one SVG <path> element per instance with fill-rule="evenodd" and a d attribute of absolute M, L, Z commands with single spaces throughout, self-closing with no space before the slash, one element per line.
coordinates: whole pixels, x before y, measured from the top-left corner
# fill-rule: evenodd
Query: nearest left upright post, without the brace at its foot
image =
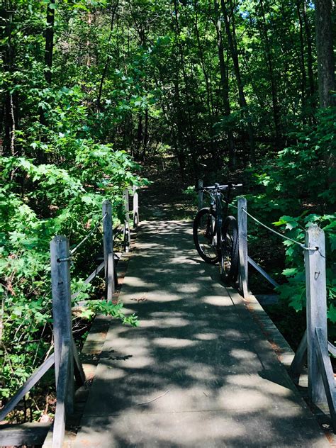
<path fill-rule="evenodd" d="M 57 387 L 60 374 L 61 351 L 67 342 L 72 352 L 72 309 L 69 270 L 69 240 L 56 236 L 50 243 L 51 284 L 52 284 L 52 318 L 55 345 L 55 381 Z M 67 412 L 74 408 L 74 361 L 71 353 L 69 359 L 69 386 L 67 391 Z"/>

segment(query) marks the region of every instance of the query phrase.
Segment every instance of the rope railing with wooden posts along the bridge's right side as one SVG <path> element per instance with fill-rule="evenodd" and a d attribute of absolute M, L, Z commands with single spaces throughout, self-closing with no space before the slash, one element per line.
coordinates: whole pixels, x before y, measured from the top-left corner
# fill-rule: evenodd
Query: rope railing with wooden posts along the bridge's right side
<path fill-rule="evenodd" d="M 238 240 L 240 258 L 239 284 L 242 296 L 250 295 L 248 289 L 248 265 L 251 264 L 273 286 L 279 286 L 271 279 L 262 267 L 249 257 L 247 250 L 247 216 L 258 225 L 271 231 L 275 235 L 289 240 L 300 246 L 304 251 L 306 270 L 306 313 L 307 330 L 303 335 L 296 351 L 289 373 L 298 381 L 305 360 L 308 359 L 308 396 L 312 403 L 327 403 L 332 420 L 332 427 L 336 432 L 336 387 L 332 365 L 328 352 L 336 353 L 335 347 L 327 340 L 327 286 L 325 269 L 325 235 L 318 225 L 310 225 L 306 230 L 305 243 L 282 235 L 268 225 L 262 223 L 247 211 L 246 198 L 237 200 Z"/>

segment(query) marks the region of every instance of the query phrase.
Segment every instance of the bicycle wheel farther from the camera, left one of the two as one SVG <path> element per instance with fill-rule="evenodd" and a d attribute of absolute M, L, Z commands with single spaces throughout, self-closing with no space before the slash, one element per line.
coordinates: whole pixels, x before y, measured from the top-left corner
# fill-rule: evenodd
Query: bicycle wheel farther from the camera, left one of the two
<path fill-rule="evenodd" d="M 205 207 L 198 211 L 194 219 L 193 236 L 200 257 L 206 263 L 217 263 L 219 257 L 213 242 L 215 237 L 215 212 L 211 212 L 210 208 Z"/>

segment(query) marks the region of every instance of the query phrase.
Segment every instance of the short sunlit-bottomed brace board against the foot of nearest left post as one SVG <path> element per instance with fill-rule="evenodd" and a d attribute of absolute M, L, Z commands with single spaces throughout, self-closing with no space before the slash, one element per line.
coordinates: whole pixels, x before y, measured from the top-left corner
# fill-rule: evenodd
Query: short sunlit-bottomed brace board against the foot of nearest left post
<path fill-rule="evenodd" d="M 65 437 L 65 410 L 67 408 L 67 391 L 69 389 L 70 356 L 69 341 L 63 340 L 56 391 L 56 412 L 52 430 L 52 448 L 62 448 Z"/>

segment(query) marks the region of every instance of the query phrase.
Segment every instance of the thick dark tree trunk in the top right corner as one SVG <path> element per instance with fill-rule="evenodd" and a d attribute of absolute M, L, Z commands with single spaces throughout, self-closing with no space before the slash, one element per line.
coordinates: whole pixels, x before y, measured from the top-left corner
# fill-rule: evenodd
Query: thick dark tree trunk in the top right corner
<path fill-rule="evenodd" d="M 335 99 L 335 62 L 332 47 L 332 0 L 315 0 L 316 51 L 318 54 L 318 94 L 320 108 L 332 106 Z"/>

